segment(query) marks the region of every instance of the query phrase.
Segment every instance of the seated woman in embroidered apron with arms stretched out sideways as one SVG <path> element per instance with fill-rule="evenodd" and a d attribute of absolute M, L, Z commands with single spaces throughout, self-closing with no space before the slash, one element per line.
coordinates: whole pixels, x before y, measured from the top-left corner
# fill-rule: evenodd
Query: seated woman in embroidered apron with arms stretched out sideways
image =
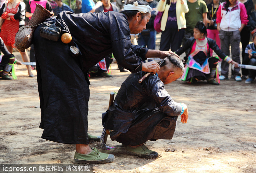
<path fill-rule="evenodd" d="M 197 22 L 194 28 L 194 38 L 189 39 L 175 53 L 180 55 L 186 50 L 189 50 L 188 61 L 185 71 L 181 76 L 181 80 L 188 83 L 199 80 L 207 80 L 207 83 L 219 85 L 219 80 L 214 81 L 218 57 L 210 56 L 210 48 L 224 61 L 234 64 L 238 67 L 238 63 L 229 58 L 223 53 L 219 46 L 211 38 L 207 38 L 207 31 L 204 22 Z M 218 79 L 218 73 L 216 73 Z"/>

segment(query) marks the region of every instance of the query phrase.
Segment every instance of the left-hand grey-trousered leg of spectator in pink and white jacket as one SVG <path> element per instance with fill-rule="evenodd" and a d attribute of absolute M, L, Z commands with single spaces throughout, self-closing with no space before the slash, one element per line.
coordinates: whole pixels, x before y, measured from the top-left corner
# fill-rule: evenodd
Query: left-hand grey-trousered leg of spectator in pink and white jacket
<path fill-rule="evenodd" d="M 221 45 L 221 50 L 229 56 L 229 45 L 230 45 L 230 41 L 229 41 L 229 35 L 230 33 L 229 32 L 226 32 L 226 31 L 223 31 L 223 30 L 220 30 L 220 45 Z M 222 76 L 225 77 L 225 79 L 228 79 L 228 67 L 229 67 L 229 64 L 222 60 L 221 61 L 221 76 L 220 76 L 220 80 L 222 80 Z"/>

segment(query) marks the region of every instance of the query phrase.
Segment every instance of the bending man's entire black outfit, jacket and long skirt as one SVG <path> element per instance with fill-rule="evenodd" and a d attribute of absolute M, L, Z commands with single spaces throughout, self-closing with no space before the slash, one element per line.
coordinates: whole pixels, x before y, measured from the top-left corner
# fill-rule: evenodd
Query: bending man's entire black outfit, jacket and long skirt
<path fill-rule="evenodd" d="M 69 45 L 34 33 L 42 138 L 67 144 L 88 144 L 87 114 L 90 67 L 113 52 L 118 64 L 132 73 L 142 69 L 147 48 L 132 45 L 128 20 L 122 13 L 61 12 L 47 21 L 57 22 L 72 35 L 80 50 L 75 57 Z"/>

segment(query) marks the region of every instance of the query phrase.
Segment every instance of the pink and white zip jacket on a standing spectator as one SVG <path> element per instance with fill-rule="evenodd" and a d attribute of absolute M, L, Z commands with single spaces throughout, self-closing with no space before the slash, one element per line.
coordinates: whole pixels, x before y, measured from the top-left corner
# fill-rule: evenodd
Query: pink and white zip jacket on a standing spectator
<path fill-rule="evenodd" d="M 242 23 L 247 25 L 248 16 L 243 3 L 237 1 L 236 5 L 231 10 L 228 9 L 228 12 L 224 8 L 225 4 L 226 2 L 221 3 L 217 11 L 216 23 L 220 23 L 221 30 L 237 31 Z"/>

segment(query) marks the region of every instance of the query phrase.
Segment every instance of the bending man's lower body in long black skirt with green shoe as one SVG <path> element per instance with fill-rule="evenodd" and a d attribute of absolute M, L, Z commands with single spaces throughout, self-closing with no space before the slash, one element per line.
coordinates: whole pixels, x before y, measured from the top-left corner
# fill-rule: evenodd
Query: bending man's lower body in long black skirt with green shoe
<path fill-rule="evenodd" d="M 89 149 L 89 85 L 82 70 L 82 57 L 74 59 L 68 44 L 40 37 L 34 33 L 38 92 L 40 97 L 42 137 L 54 142 L 77 144 L 75 163 L 106 163 L 114 155 Z M 54 51 L 44 51 L 51 50 Z M 56 62 L 60 66 L 56 66 Z M 47 75 L 45 75 L 47 74 Z M 83 154 L 89 153 L 89 154 Z"/>

